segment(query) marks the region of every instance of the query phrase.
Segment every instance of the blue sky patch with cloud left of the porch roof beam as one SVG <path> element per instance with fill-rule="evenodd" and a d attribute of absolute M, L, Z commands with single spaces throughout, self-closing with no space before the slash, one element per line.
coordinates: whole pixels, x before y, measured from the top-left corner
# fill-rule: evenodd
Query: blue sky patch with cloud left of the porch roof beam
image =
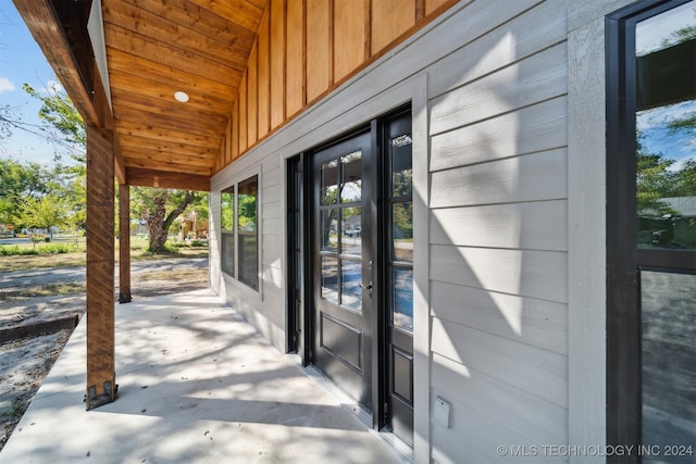
<path fill-rule="evenodd" d="M 12 106 L 12 114 L 18 115 L 27 125 L 40 125 L 37 113 L 41 103 L 22 90 L 24 83 L 45 91 L 57 84 L 55 73 L 14 4 L 10 0 L 0 0 L 0 105 Z M 54 147 L 23 130 L 13 129 L 0 145 L 0 159 L 53 164 Z M 69 161 L 67 156 L 63 156 L 63 161 Z"/>

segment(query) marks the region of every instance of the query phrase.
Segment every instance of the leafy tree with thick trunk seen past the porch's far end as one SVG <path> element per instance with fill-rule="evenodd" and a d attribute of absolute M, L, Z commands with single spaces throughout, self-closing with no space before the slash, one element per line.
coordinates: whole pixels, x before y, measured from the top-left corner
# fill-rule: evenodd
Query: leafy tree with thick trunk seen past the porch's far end
<path fill-rule="evenodd" d="M 133 214 L 145 221 L 151 253 L 164 253 L 164 243 L 174 221 L 191 204 L 201 204 L 204 196 L 190 190 L 134 187 L 130 196 Z M 167 213 L 167 209 L 170 212 Z"/>

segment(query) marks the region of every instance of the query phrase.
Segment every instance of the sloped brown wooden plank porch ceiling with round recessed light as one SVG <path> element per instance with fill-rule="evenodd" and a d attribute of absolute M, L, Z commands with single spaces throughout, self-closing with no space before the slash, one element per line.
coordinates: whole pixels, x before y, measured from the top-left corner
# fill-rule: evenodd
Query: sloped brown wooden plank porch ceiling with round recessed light
<path fill-rule="evenodd" d="M 153 172 L 213 174 L 266 2 L 102 0 L 114 129 L 129 184 L 157 184 L 148 180 Z"/>

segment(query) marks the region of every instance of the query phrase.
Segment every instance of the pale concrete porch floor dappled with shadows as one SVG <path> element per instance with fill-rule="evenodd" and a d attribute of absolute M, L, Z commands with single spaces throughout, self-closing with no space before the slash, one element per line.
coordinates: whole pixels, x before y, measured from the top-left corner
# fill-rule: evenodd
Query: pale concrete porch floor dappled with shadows
<path fill-rule="evenodd" d="M 85 338 L 83 319 L 0 463 L 408 460 L 209 290 L 116 305 L 119 399 L 89 412 Z"/>

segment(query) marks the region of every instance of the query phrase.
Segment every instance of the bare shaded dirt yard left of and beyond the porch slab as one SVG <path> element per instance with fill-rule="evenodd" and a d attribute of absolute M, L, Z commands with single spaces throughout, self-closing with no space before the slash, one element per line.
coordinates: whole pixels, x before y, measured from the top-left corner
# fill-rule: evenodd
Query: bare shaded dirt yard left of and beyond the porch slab
<path fill-rule="evenodd" d="M 130 287 L 134 300 L 207 288 L 208 259 L 133 263 Z M 0 274 L 0 328 L 74 314 L 82 318 L 85 304 L 84 267 Z M 71 334 L 0 342 L 0 450 Z"/>

